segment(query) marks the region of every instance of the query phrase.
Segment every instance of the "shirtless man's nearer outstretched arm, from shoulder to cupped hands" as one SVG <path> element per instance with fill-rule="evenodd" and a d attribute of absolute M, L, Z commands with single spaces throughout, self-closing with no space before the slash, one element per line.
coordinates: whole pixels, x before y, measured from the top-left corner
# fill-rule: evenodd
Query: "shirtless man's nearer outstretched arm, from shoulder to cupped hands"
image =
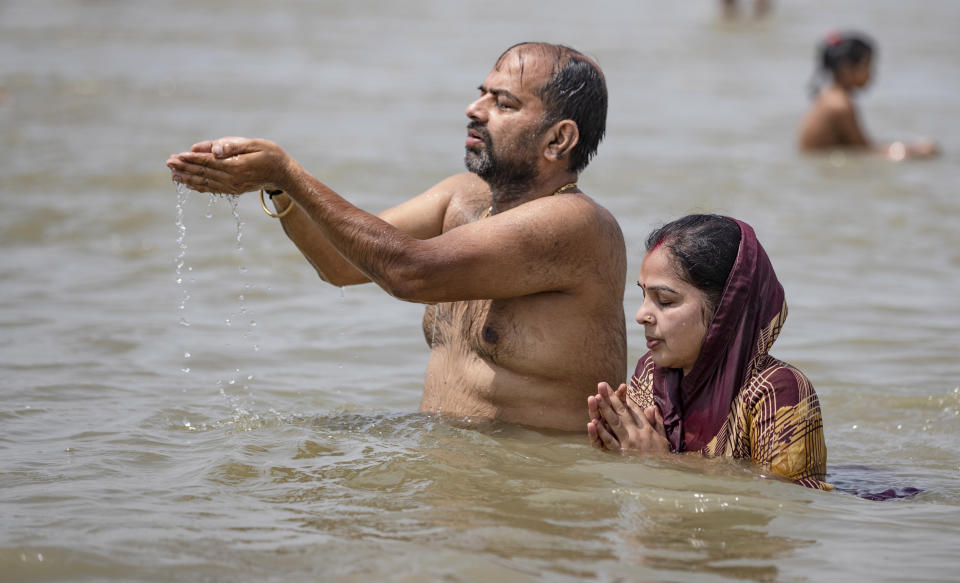
<path fill-rule="evenodd" d="M 569 291 L 595 268 L 594 246 L 583 243 L 597 240 L 598 227 L 583 197 L 537 199 L 420 240 L 353 206 L 272 142 L 221 140 L 212 152 L 175 156 L 174 179 L 209 192 L 284 190 L 340 255 L 400 299 L 433 303 Z"/>

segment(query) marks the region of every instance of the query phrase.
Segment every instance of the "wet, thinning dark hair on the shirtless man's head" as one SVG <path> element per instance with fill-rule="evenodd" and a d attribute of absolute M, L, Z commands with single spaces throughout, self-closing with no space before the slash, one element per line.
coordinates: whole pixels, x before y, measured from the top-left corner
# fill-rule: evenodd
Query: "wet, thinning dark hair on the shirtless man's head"
<path fill-rule="evenodd" d="M 579 174 L 596 155 L 607 130 L 607 83 L 603 72 L 576 49 L 541 42 L 513 45 L 500 55 L 497 66 L 511 51 L 527 47 L 553 60 L 553 75 L 537 91 L 544 107 L 542 128 L 565 119 L 577 124 L 580 139 L 570 152 L 570 170 Z M 523 54 L 519 57 L 522 78 Z"/>

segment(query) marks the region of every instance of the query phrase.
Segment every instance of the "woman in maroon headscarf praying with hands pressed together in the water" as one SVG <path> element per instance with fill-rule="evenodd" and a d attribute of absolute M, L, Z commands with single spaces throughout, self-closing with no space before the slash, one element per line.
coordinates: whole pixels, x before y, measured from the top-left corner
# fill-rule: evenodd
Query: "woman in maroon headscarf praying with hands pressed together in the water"
<path fill-rule="evenodd" d="M 717 215 L 669 223 L 647 239 L 637 283 L 649 351 L 629 389 L 600 383 L 587 399 L 592 444 L 748 459 L 832 489 L 817 394 L 768 354 L 787 305 L 753 229 Z"/>

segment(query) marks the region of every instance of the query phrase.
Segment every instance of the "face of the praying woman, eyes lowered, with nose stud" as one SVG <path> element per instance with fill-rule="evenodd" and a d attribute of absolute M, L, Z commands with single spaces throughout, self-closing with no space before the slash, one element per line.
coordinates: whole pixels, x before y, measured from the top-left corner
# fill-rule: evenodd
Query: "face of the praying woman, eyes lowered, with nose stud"
<path fill-rule="evenodd" d="M 671 252 L 662 246 L 643 258 L 637 283 L 643 289 L 637 322 L 643 325 L 654 364 L 688 374 L 712 317 L 706 313 L 706 294 L 680 279 Z"/>

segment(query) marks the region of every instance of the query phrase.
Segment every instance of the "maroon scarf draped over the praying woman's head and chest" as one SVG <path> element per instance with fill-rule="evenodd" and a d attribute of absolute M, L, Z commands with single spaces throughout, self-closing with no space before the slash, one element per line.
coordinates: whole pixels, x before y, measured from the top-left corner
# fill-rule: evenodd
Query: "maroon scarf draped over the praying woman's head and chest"
<path fill-rule="evenodd" d="M 676 368 L 653 372 L 653 399 L 677 452 L 699 451 L 720 431 L 734 397 L 787 317 L 783 286 L 767 253 L 750 225 L 731 220 L 740 226 L 740 248 L 700 356 L 686 376 Z"/>

